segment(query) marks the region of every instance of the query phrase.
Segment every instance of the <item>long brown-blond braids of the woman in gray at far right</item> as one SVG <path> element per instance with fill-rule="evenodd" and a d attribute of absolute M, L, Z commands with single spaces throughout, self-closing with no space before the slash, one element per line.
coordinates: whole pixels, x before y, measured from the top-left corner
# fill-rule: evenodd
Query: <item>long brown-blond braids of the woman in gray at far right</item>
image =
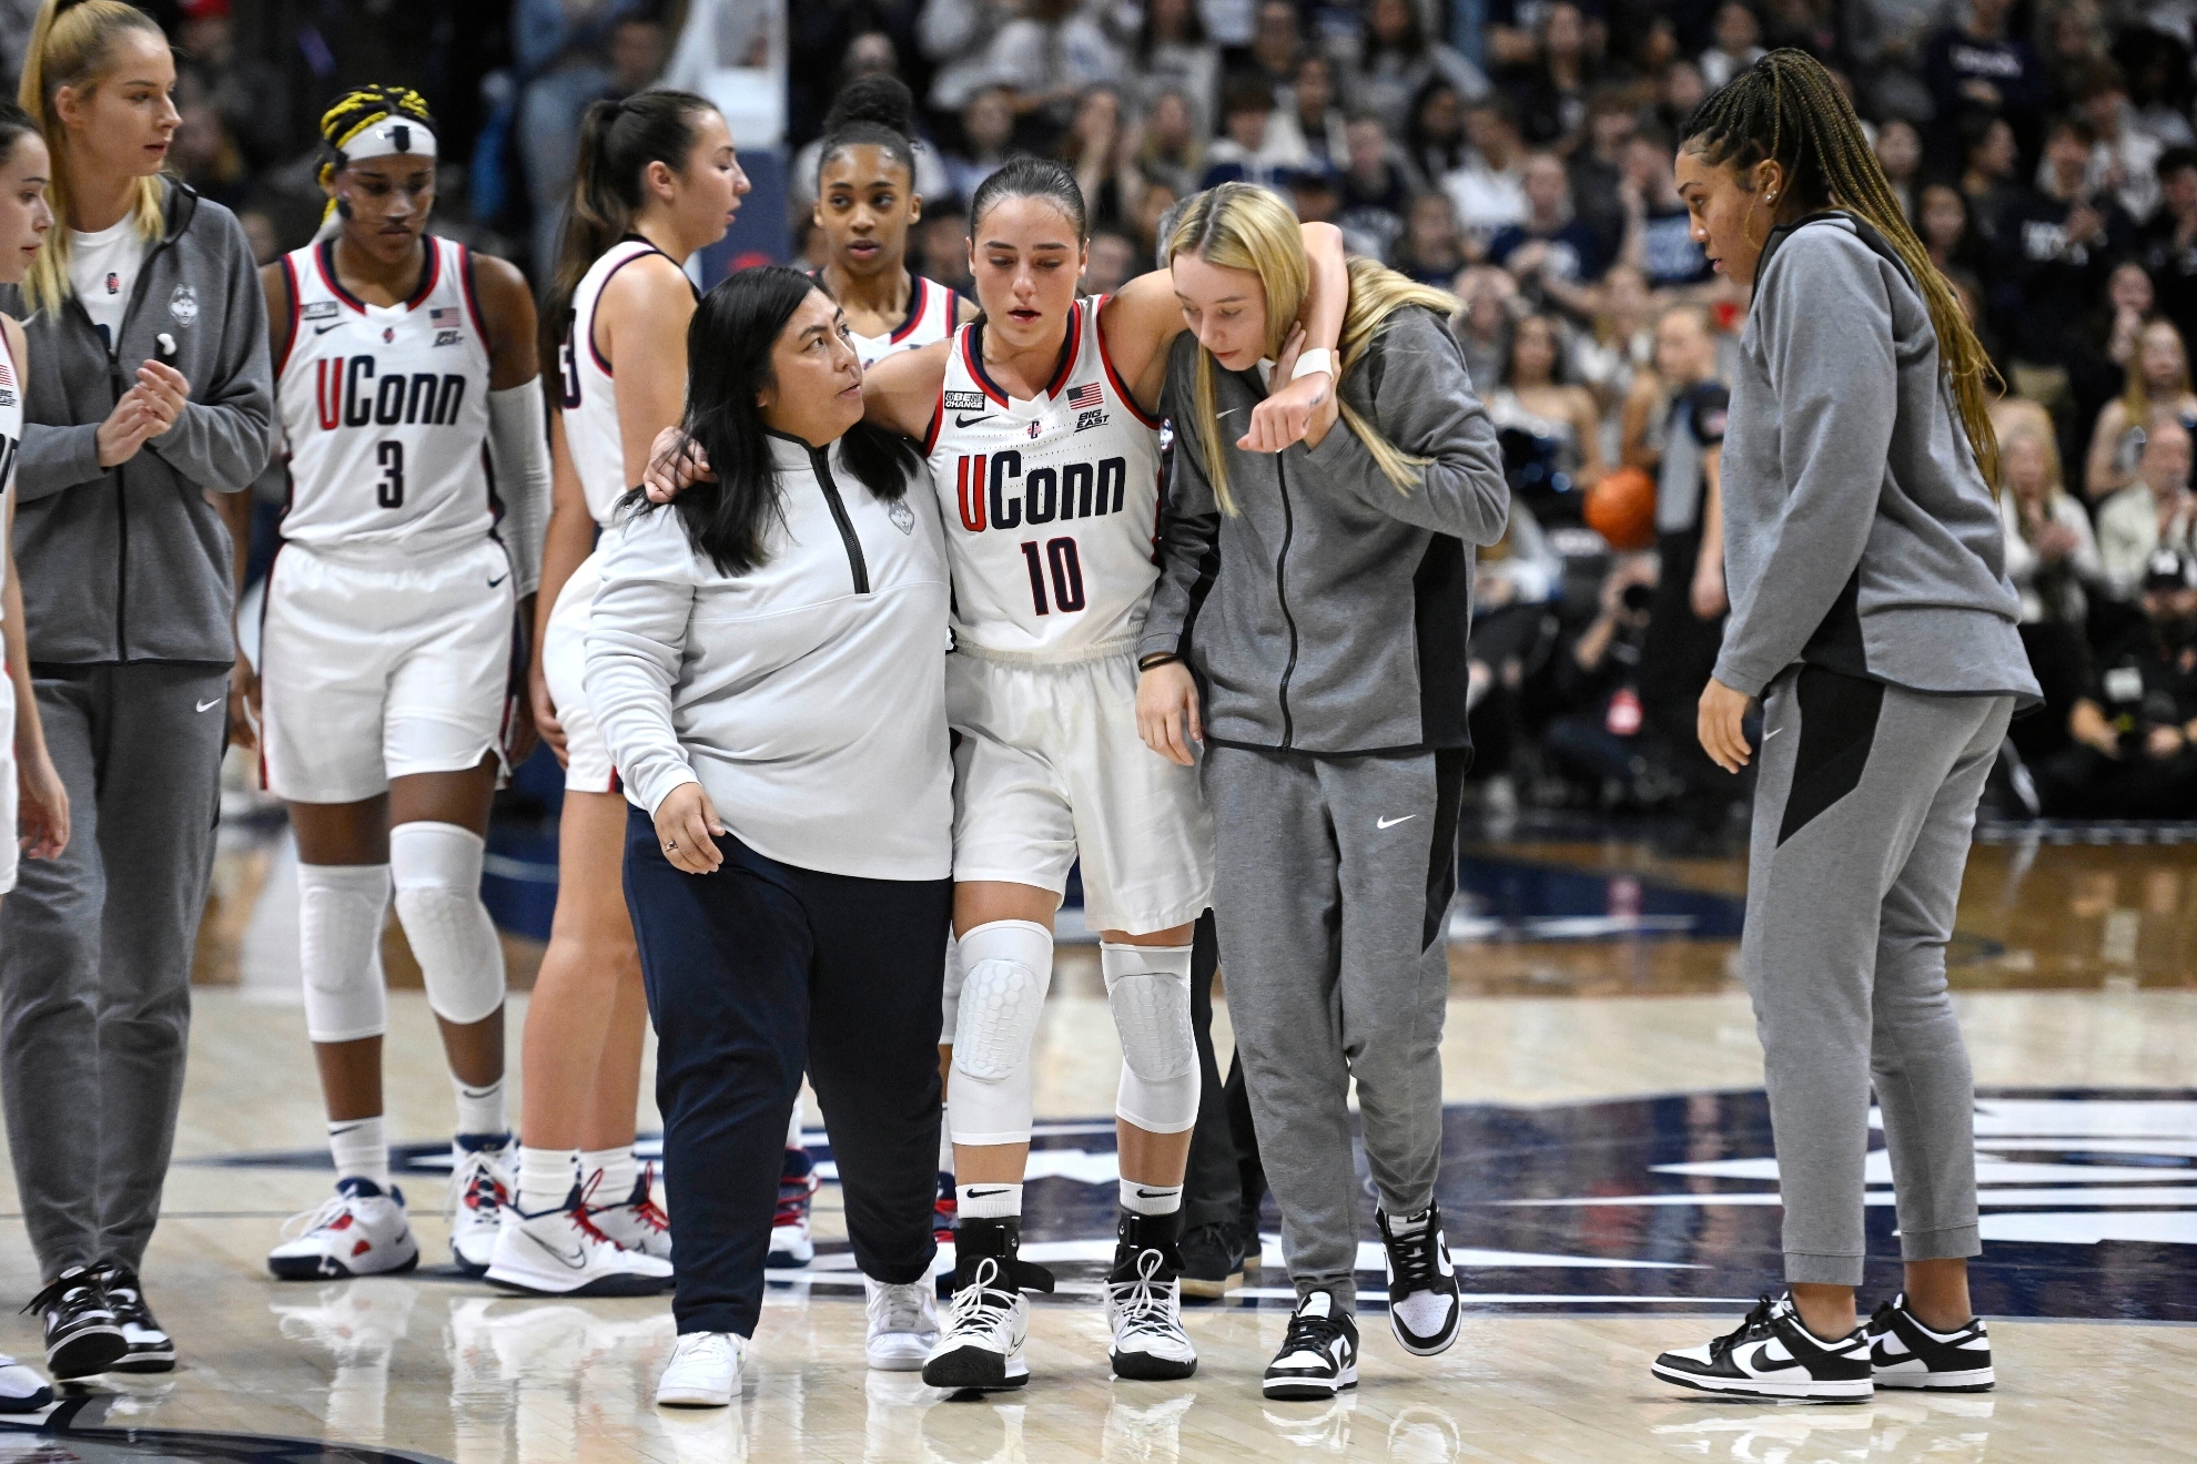
<path fill-rule="evenodd" d="M 1694 108 L 1681 145 L 1711 165 L 1731 167 L 1742 187 L 1749 187 L 1747 176 L 1758 162 L 1777 162 L 1786 176 L 1786 217 L 1845 209 L 1885 237 L 1922 292 L 1960 424 L 1984 481 L 1997 492 L 1999 439 L 1990 430 L 1988 406 L 1999 373 L 1953 285 L 1907 224 L 1854 105 L 1824 64 L 1806 50 L 1771 50 Z"/>

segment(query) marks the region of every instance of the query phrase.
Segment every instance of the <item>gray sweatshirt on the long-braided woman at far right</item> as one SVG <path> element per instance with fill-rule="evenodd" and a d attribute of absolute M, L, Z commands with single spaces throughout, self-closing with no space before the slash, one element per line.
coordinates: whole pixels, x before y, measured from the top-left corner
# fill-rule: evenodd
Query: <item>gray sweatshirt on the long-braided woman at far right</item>
<path fill-rule="evenodd" d="M 1911 691 L 2039 696 L 1929 307 L 1865 222 L 1819 213 L 1764 246 L 1722 483 L 1720 683 L 1762 696 L 1806 661 Z"/>

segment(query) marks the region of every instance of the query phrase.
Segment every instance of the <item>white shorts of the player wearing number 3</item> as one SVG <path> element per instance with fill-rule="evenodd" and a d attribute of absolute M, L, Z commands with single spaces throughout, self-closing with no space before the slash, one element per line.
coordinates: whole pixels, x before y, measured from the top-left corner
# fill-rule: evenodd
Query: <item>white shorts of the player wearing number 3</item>
<path fill-rule="evenodd" d="M 259 632 L 268 790 L 356 803 L 501 755 L 512 612 L 512 562 L 490 538 L 428 560 L 283 544 Z"/>

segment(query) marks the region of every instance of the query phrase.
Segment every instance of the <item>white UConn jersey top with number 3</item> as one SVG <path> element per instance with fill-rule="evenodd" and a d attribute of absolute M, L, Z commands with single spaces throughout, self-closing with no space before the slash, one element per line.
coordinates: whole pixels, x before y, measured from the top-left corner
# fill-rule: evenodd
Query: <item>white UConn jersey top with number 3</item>
<path fill-rule="evenodd" d="M 290 347 L 275 402 L 290 439 L 281 536 L 406 555 L 497 522 L 488 478 L 488 325 L 464 244 L 426 235 L 420 290 L 367 305 L 336 283 L 334 239 L 283 255 Z"/>

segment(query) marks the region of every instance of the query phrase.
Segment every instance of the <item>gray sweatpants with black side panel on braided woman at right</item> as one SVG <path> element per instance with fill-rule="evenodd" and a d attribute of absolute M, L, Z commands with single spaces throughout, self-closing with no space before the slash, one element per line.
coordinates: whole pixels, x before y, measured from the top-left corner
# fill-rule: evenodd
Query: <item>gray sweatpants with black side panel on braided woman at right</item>
<path fill-rule="evenodd" d="M 1859 1286 L 1870 1089 L 1905 1260 L 1975 1255 L 1975 1080 L 1944 944 L 2012 696 L 1793 667 L 1762 698 L 1740 970 L 1769 1073 L 1788 1282 Z"/>

